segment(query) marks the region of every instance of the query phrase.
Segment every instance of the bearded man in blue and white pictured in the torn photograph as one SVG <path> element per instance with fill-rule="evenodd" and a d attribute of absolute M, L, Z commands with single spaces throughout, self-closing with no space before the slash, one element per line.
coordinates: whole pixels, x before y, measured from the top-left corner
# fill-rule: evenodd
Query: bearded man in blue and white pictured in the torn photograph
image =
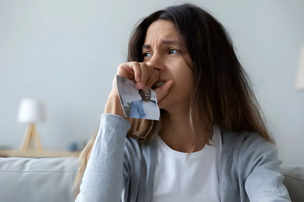
<path fill-rule="evenodd" d="M 159 109 L 157 103 L 151 100 L 151 92 L 139 91 L 141 100 L 130 103 L 130 117 L 138 119 L 159 120 Z"/>

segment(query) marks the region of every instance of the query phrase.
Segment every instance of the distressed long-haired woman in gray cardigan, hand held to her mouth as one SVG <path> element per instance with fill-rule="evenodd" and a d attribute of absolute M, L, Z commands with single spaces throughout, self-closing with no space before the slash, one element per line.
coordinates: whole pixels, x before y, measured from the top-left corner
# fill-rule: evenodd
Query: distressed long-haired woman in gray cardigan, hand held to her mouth
<path fill-rule="evenodd" d="M 114 79 L 76 201 L 290 201 L 223 25 L 191 4 L 154 12 L 133 32 L 128 61 L 117 75 L 153 86 L 161 119 L 124 119 Z"/>

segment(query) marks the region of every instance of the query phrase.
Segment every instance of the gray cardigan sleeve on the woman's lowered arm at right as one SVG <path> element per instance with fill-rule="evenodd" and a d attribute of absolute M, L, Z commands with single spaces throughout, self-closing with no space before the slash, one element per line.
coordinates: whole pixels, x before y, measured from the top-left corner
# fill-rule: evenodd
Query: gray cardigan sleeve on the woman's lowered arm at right
<path fill-rule="evenodd" d="M 239 153 L 239 167 L 244 169 L 245 190 L 250 201 L 291 201 L 284 176 L 279 172 L 275 146 L 256 134 L 244 140 Z"/>

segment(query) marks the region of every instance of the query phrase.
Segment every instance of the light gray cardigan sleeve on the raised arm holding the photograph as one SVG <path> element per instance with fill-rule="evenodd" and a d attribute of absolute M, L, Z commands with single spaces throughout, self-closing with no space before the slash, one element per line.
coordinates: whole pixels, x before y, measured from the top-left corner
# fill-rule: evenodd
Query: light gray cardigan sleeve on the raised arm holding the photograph
<path fill-rule="evenodd" d="M 124 146 L 130 123 L 120 116 L 102 114 L 99 131 L 75 202 L 121 201 Z"/>

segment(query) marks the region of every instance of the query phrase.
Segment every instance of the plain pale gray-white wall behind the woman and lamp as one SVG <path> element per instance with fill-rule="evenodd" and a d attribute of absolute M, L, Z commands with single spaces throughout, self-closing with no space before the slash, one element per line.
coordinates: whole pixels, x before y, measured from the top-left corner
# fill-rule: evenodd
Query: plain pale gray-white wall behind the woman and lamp
<path fill-rule="evenodd" d="M 304 94 L 294 90 L 304 1 L 191 2 L 211 11 L 232 35 L 283 163 L 304 165 Z M 135 22 L 174 3 L 2 0 L 0 145 L 20 146 L 26 126 L 17 122 L 17 111 L 24 97 L 47 104 L 47 122 L 38 125 L 45 149 L 64 150 L 92 136 Z"/>

